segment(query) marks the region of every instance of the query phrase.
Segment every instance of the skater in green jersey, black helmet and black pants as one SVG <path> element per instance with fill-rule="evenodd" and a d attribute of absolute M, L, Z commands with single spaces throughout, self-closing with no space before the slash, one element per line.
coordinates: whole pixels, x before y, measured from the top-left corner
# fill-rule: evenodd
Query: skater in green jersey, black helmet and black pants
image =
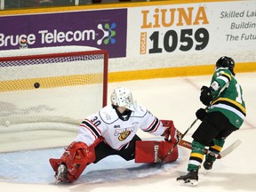
<path fill-rule="evenodd" d="M 236 81 L 234 68 L 233 59 L 221 57 L 216 62 L 211 85 L 201 88 L 200 100 L 209 108 L 196 111 L 196 117 L 202 123 L 192 135 L 194 140 L 188 161 L 188 174 L 177 178 L 182 184 L 196 185 L 198 170 L 204 159 L 204 147 L 210 147 L 205 156 L 204 169 L 211 170 L 228 135 L 238 130 L 244 122 L 246 111 L 243 91 Z"/>

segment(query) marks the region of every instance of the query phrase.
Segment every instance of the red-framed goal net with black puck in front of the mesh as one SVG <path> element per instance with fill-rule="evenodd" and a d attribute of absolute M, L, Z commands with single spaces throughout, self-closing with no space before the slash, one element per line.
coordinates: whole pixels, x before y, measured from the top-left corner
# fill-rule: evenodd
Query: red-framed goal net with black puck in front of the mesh
<path fill-rule="evenodd" d="M 0 51 L 0 133 L 72 129 L 107 104 L 107 84 L 108 52 L 103 50 Z"/>

